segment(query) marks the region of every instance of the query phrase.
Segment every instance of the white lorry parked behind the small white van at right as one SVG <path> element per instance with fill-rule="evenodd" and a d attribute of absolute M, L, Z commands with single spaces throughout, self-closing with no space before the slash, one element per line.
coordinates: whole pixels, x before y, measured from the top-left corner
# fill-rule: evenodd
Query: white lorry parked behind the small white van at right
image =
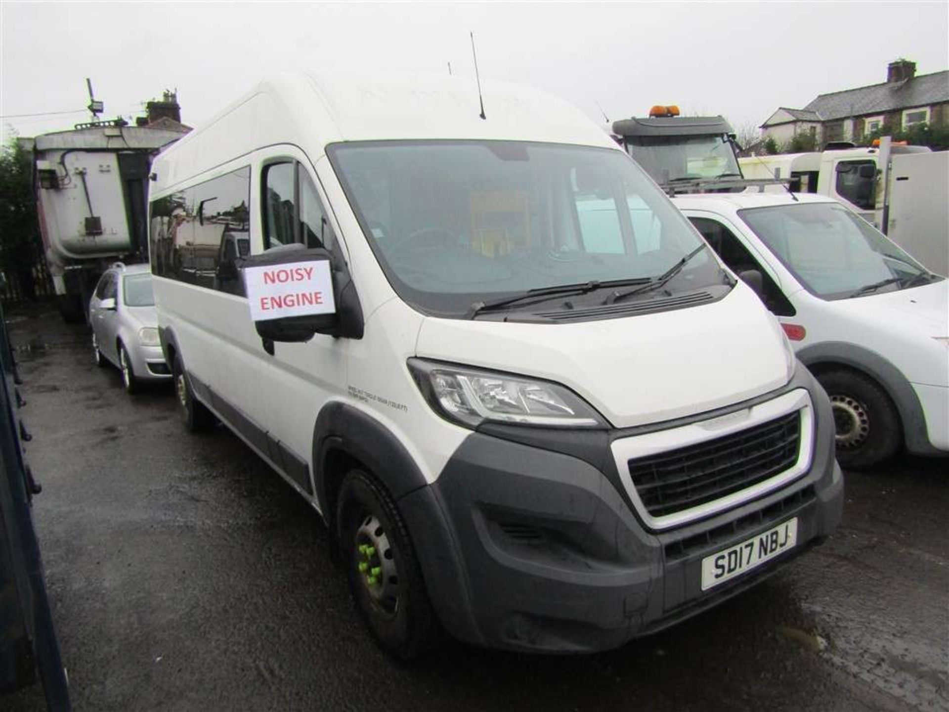
<path fill-rule="evenodd" d="M 932 272 L 949 274 L 949 152 L 893 144 L 738 159 L 746 178 L 843 200 Z M 768 191 L 782 191 L 769 186 Z"/>

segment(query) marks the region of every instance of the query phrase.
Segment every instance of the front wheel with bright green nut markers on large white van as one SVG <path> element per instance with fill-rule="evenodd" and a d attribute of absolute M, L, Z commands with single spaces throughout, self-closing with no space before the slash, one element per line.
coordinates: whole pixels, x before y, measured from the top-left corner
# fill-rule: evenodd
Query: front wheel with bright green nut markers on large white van
<path fill-rule="evenodd" d="M 415 549 L 392 497 L 363 470 L 351 470 L 337 499 L 340 559 L 349 591 L 381 648 L 401 661 L 438 637 Z"/>

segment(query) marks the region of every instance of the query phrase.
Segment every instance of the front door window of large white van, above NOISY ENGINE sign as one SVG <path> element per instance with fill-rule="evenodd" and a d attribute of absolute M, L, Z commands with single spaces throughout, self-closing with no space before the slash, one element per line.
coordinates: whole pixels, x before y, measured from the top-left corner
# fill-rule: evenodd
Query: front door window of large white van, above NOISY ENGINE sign
<path fill-rule="evenodd" d="M 308 248 L 335 247 L 336 235 L 320 196 L 299 162 L 265 166 L 263 190 L 265 249 L 292 242 Z"/>

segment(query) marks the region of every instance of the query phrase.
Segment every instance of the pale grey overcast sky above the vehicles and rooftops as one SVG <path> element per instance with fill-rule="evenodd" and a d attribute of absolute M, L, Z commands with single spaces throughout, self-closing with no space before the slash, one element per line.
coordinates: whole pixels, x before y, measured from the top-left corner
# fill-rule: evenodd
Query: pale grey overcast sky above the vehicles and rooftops
<path fill-rule="evenodd" d="M 735 127 L 778 106 L 878 84 L 898 57 L 949 68 L 949 3 L 25 3 L 0 0 L 0 126 L 71 128 L 92 79 L 105 117 L 166 88 L 199 125 L 294 68 L 447 72 L 533 84 L 602 122 L 654 103 Z M 474 89 L 473 89 L 474 90 Z"/>

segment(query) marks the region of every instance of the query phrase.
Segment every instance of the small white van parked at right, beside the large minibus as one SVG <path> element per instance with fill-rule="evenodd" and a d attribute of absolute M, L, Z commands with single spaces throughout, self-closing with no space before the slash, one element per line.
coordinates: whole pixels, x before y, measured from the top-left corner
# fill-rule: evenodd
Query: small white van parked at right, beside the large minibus
<path fill-rule="evenodd" d="M 949 282 L 831 197 L 673 200 L 765 305 L 828 392 L 837 459 L 949 453 Z"/>

